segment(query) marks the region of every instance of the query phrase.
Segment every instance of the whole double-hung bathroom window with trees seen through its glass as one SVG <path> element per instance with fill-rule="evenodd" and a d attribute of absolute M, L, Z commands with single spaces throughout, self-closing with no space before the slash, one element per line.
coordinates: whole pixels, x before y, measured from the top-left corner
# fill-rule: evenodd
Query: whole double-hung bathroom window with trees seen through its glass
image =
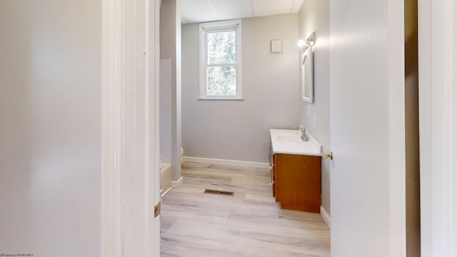
<path fill-rule="evenodd" d="M 200 99 L 241 97 L 241 20 L 200 24 Z"/>

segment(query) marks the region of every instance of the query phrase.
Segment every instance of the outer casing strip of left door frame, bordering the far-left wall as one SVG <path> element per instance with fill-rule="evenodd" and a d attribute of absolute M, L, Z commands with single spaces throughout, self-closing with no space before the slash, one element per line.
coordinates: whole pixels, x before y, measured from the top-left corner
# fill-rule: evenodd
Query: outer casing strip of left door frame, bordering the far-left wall
<path fill-rule="evenodd" d="M 101 222 L 102 256 L 122 256 L 122 138 L 120 135 L 121 89 L 123 81 L 121 48 L 124 20 L 121 0 L 102 0 L 101 79 Z"/>

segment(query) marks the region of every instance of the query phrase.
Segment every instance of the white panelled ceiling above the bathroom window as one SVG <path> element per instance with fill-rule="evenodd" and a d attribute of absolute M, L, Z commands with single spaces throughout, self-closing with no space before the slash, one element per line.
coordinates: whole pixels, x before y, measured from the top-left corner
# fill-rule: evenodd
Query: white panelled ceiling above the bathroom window
<path fill-rule="evenodd" d="M 304 0 L 181 0 L 183 24 L 297 13 Z"/>

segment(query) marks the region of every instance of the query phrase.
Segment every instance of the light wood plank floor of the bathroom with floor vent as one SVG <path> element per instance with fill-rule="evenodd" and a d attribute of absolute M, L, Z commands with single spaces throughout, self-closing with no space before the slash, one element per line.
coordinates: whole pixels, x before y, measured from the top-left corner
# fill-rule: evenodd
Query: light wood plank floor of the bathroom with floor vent
<path fill-rule="evenodd" d="M 184 163 L 182 174 L 184 183 L 162 201 L 161 256 L 330 256 L 326 223 L 281 210 L 268 169 Z"/>

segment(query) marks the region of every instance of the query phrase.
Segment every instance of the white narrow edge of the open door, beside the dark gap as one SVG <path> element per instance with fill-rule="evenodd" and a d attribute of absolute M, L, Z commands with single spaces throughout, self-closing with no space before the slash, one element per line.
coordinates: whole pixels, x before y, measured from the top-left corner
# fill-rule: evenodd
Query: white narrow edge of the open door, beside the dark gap
<path fill-rule="evenodd" d="M 388 0 L 388 168 L 390 256 L 406 256 L 404 2 Z"/>

